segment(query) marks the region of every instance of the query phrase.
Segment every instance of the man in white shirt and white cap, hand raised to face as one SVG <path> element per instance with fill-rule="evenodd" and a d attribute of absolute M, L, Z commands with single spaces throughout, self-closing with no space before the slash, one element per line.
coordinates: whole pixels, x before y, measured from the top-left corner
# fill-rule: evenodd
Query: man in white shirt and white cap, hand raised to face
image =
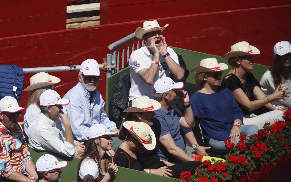
<path fill-rule="evenodd" d="M 61 99 L 54 90 L 46 90 L 40 95 L 38 103 L 40 114 L 28 127 L 29 147 L 68 157 L 75 156 L 78 146 L 76 148 L 74 146 L 70 118 L 62 113 L 63 106 L 69 103 L 70 100 Z M 65 137 L 63 132 L 56 128 L 58 119 L 65 127 Z"/>

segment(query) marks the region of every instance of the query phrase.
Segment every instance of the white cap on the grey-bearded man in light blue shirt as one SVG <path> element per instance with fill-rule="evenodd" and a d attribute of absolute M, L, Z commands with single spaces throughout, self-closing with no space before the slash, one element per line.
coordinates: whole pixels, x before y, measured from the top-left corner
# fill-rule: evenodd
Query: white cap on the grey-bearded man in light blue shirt
<path fill-rule="evenodd" d="M 84 76 L 100 76 L 99 64 L 94 59 L 83 61 L 80 71 Z"/>

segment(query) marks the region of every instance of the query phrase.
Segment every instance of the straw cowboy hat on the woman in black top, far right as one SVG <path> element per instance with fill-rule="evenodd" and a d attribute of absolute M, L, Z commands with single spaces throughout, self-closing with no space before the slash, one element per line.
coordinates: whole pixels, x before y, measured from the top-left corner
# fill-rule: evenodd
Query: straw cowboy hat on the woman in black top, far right
<path fill-rule="evenodd" d="M 223 57 L 238 57 L 260 54 L 258 48 L 251 46 L 248 42 L 238 42 L 230 47 L 230 52 L 226 53 Z"/>

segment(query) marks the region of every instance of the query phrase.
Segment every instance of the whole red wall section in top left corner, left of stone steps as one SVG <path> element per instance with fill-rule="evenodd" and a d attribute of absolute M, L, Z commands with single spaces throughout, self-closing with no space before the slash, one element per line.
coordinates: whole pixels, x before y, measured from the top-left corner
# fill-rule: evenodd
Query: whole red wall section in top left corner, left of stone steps
<path fill-rule="evenodd" d="M 1 1 L 0 38 L 66 29 L 66 0 Z"/>

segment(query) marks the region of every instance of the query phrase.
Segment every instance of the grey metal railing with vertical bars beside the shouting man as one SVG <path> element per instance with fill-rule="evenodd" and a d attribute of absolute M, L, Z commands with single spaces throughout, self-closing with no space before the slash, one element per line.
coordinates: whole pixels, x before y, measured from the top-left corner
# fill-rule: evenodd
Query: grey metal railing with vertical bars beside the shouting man
<path fill-rule="evenodd" d="M 142 39 L 136 38 L 135 33 L 132 33 L 120 40 L 110 44 L 108 49 L 111 50 L 110 54 L 107 54 L 107 59 L 112 60 L 112 65 L 116 65 L 116 71 L 119 72 L 125 67 L 125 63 L 129 61 L 130 54 L 139 49 L 140 45 L 143 46 L 144 42 Z M 136 45 L 136 46 L 135 46 Z M 121 67 L 120 67 L 120 51 L 122 51 L 121 56 Z M 125 56 L 126 51 L 126 56 Z M 110 58 L 111 57 L 111 58 Z M 125 62 L 126 57 L 126 62 Z"/>

